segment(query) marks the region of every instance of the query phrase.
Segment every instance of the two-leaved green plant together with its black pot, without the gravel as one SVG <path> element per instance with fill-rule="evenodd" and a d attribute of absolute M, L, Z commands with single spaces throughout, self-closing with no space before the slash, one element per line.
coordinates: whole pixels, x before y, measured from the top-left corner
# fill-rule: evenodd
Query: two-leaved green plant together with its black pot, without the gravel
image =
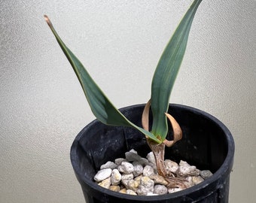
<path fill-rule="evenodd" d="M 195 0 L 192 3 L 163 51 L 151 83 L 151 98 L 148 103 L 120 110 L 99 89 L 81 62 L 59 38 L 49 18 L 44 16 L 69 59 L 97 118 L 77 135 L 71 149 L 72 165 L 86 202 L 228 201 L 234 154 L 233 138 L 229 130 L 215 117 L 203 111 L 184 105 L 169 105 L 169 96 L 184 56 L 190 26 L 201 2 L 202 0 Z M 137 150 L 141 155 L 151 150 L 157 173 L 164 177 L 169 187 L 185 188 L 186 180 L 166 171 L 163 162 L 165 156 L 174 160 L 185 159 L 199 168 L 209 168 L 214 174 L 197 186 L 157 196 L 113 192 L 93 181 L 102 164 L 131 149 Z"/>

